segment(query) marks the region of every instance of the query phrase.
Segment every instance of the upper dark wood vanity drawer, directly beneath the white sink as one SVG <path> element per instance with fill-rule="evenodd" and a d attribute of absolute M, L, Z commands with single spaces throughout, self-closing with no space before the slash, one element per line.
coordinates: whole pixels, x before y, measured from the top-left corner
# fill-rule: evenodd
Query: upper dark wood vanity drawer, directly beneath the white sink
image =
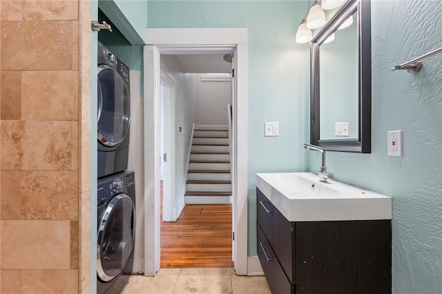
<path fill-rule="evenodd" d="M 265 195 L 256 189 L 257 219 L 292 284 L 296 281 L 295 223 L 289 222 Z M 259 247 L 259 244 L 258 244 Z"/>

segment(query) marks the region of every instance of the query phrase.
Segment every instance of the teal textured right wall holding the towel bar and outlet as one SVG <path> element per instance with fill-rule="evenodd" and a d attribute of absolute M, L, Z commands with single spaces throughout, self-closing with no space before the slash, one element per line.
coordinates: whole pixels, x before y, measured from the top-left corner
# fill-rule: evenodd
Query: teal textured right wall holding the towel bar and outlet
<path fill-rule="evenodd" d="M 441 1 L 373 1 L 372 153 L 327 154 L 336 179 L 393 197 L 393 293 L 442 293 L 442 54 L 390 71 L 441 41 Z M 387 130 L 403 130 L 403 157 L 387 157 Z"/>

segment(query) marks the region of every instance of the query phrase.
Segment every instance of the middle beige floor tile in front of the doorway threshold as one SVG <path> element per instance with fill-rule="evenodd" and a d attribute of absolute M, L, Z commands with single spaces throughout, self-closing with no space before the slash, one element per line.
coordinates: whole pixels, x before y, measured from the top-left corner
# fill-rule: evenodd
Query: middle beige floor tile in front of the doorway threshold
<path fill-rule="evenodd" d="M 180 275 L 173 293 L 232 293 L 231 276 Z"/>

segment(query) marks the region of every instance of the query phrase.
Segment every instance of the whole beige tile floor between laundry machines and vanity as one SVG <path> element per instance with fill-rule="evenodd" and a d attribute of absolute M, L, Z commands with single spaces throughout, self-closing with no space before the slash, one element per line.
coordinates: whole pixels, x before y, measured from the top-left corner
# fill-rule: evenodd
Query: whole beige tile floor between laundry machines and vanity
<path fill-rule="evenodd" d="M 233 268 L 161 268 L 155 277 L 133 275 L 122 293 L 270 293 L 264 276 L 236 275 Z"/>

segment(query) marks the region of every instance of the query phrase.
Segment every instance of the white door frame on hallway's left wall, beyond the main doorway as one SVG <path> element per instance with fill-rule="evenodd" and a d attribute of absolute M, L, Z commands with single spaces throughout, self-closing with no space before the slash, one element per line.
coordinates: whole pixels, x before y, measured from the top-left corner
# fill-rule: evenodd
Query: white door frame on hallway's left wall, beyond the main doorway
<path fill-rule="evenodd" d="M 161 66 L 162 82 L 162 132 L 164 153 L 162 165 L 163 180 L 163 221 L 174 222 L 175 219 L 175 97 L 177 82 L 166 66 Z"/>

